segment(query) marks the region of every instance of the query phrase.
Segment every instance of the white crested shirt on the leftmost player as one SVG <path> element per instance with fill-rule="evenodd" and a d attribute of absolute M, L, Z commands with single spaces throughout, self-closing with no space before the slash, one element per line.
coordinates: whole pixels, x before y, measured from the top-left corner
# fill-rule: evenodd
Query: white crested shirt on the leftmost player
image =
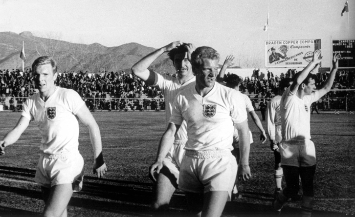
<path fill-rule="evenodd" d="M 35 120 L 42 135 L 40 149 L 45 154 L 78 150 L 79 123 L 75 114 L 85 102 L 74 90 L 56 87 L 44 102 L 37 93 L 26 100 L 22 116 Z"/>

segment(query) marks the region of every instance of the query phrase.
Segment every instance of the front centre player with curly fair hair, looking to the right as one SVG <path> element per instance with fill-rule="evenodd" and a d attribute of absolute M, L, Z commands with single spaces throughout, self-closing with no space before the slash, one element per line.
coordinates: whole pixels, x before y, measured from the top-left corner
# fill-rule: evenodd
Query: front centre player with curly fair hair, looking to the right
<path fill-rule="evenodd" d="M 190 210 L 202 216 L 221 216 L 231 197 L 237 176 L 236 159 L 230 152 L 233 123 L 238 129 L 241 147 L 238 178 L 251 177 L 245 103 L 238 92 L 215 82 L 219 59 L 217 51 L 210 47 L 199 47 L 192 53 L 196 82 L 177 94 L 156 162 L 150 168 L 151 176 L 160 173 L 174 135 L 186 121 L 188 140 L 180 166 L 179 188 L 185 192 Z"/>

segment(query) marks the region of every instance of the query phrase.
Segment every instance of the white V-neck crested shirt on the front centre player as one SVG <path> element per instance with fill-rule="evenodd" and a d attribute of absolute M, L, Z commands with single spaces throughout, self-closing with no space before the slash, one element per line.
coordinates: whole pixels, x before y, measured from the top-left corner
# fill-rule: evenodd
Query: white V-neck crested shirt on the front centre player
<path fill-rule="evenodd" d="M 201 97 L 196 82 L 180 91 L 174 101 L 170 122 L 187 123 L 186 150 L 233 150 L 233 123 L 247 119 L 243 97 L 236 90 L 215 82 Z"/>

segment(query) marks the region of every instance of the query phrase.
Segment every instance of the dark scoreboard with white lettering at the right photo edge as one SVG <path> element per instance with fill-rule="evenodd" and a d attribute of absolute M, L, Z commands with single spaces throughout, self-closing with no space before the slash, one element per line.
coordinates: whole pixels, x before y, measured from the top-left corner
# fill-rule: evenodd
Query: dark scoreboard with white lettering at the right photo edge
<path fill-rule="evenodd" d="M 333 39 L 333 55 L 340 53 L 339 68 L 355 68 L 355 39 Z"/>

